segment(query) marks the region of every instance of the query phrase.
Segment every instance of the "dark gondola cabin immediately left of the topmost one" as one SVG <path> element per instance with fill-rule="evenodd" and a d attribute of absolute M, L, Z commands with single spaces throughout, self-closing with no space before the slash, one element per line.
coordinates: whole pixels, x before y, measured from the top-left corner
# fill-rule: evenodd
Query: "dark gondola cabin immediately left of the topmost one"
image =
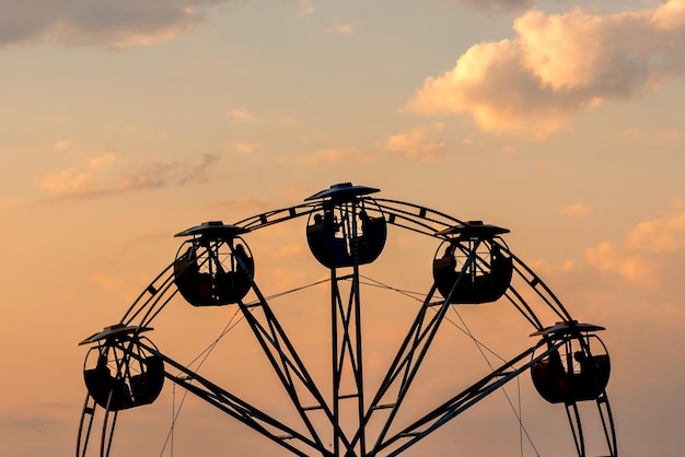
<path fill-rule="evenodd" d="M 247 295 L 255 263 L 240 233 L 244 231 L 217 221 L 176 235 L 193 236 L 181 246 L 174 261 L 174 282 L 188 303 L 221 306 Z"/>

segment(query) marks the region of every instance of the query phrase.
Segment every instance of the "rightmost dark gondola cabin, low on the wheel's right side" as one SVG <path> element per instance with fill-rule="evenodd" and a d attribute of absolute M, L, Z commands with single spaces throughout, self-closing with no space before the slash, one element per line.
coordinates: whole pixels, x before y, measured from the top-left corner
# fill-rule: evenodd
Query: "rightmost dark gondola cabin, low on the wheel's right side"
<path fill-rule="evenodd" d="M 603 327 L 559 323 L 533 333 L 543 336 L 546 354 L 531 366 L 537 392 L 550 403 L 573 403 L 599 398 L 608 384 L 611 361 L 593 331 Z"/>

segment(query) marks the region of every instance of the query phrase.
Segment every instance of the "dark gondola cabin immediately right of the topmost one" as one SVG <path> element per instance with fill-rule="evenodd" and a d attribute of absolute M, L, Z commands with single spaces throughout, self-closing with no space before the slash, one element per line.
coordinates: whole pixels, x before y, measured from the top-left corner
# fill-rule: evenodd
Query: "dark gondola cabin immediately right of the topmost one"
<path fill-rule="evenodd" d="M 513 263 L 497 239 L 507 228 L 467 222 L 445 235 L 433 259 L 436 286 L 445 301 L 479 304 L 499 300 L 511 283 Z"/>

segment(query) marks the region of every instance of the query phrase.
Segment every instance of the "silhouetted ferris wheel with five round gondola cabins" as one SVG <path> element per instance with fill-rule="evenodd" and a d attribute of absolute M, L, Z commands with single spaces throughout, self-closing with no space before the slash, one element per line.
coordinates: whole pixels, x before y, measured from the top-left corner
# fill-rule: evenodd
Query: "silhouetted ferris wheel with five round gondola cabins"
<path fill-rule="evenodd" d="M 119 413 L 153 403 L 165 383 L 204 400 L 227 420 L 239 421 L 256 432 L 256 438 L 269 440 L 286 454 L 380 457 L 404 454 L 523 375 L 532 378 L 543 401 L 566 412 L 571 455 L 588 455 L 588 426 L 583 425 L 591 423 L 600 429 L 592 433 L 601 436 L 601 452 L 617 456 L 606 395 L 609 356 L 596 335 L 604 328 L 579 323 L 569 314 L 542 279 L 509 249 L 502 238 L 509 230 L 375 198 L 376 192 L 379 189 L 371 187 L 338 184 L 301 204 L 233 224 L 206 222 L 178 233 L 184 241 L 171 265 L 117 324 L 80 343 L 89 347 L 83 367 L 88 392 L 77 457 L 116 455 L 113 444 Z M 321 352 L 329 354 L 328 375 L 323 380 L 301 355 L 292 327 L 282 325 L 282 308 L 275 305 L 279 296 L 297 296 L 306 286 L 267 294 L 268 288 L 259 282 L 258 249 L 248 245 L 257 233 L 298 223 L 325 273 L 306 285 L 326 286 L 323 303 L 307 304 L 326 309 L 327 320 L 318 324 L 327 328 L 328 348 Z M 369 376 L 367 335 L 379 329 L 362 326 L 362 320 L 373 296 L 368 289 L 381 282 L 365 271 L 390 248 L 386 242 L 398 234 L 433 246 L 432 266 L 426 266 L 431 270 L 430 281 L 422 292 L 383 284 L 416 305 L 408 328 L 402 330 L 404 336 L 380 374 Z M 236 309 L 241 325 L 249 328 L 264 353 L 290 413 L 281 415 L 281 409 L 259 405 L 221 379 L 209 379 L 152 342 L 152 325 L 171 303 L 176 306 L 182 301 L 178 295 L 195 307 Z M 514 355 L 490 363 L 485 375 L 474 375 L 465 387 L 446 386 L 443 390 L 449 395 L 436 405 L 407 408 L 429 349 L 439 330 L 452 321 L 449 313 L 488 306 L 513 309 L 529 328 L 524 345 L 516 348 Z M 581 403 L 596 406 L 590 422 L 584 420 L 587 410 L 579 408 Z"/>

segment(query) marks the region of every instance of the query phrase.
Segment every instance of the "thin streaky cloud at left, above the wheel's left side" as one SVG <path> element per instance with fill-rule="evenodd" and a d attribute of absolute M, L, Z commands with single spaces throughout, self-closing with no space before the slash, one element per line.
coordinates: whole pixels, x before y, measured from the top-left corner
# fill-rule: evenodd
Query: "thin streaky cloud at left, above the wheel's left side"
<path fill-rule="evenodd" d="M 85 165 L 71 166 L 36 178 L 36 184 L 50 194 L 48 200 L 88 199 L 126 194 L 165 186 L 184 186 L 206 180 L 207 169 L 220 157 L 204 154 L 199 163 L 155 162 L 133 172 L 114 169 L 117 156 L 104 152 Z"/>

